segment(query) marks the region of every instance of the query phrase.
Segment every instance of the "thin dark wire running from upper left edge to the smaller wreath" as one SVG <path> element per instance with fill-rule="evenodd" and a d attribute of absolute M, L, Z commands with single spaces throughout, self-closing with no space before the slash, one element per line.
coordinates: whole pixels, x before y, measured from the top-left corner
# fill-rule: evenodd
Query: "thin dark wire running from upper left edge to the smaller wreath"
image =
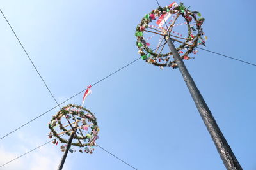
<path fill-rule="evenodd" d="M 8 20 L 7 20 L 7 18 L 5 17 L 5 15 L 4 15 L 4 13 L 3 13 L 3 11 L 2 11 L 1 9 L 0 9 L 0 11 L 1 11 L 1 13 L 2 13 L 2 15 L 3 15 L 4 19 L 5 19 L 5 20 L 6 20 L 6 22 L 8 23 L 9 27 L 12 29 L 13 34 L 15 35 L 15 37 L 17 38 L 17 40 L 19 41 L 20 46 L 22 47 L 22 49 L 23 49 L 23 50 L 24 50 L 24 52 L 26 53 L 26 55 L 27 55 L 28 59 L 30 60 L 31 64 L 32 64 L 32 65 L 33 65 L 33 67 L 35 68 L 36 73 L 40 76 L 40 78 L 41 78 L 41 80 L 43 81 L 43 83 L 44 83 L 45 87 L 46 87 L 46 88 L 47 88 L 47 90 L 50 92 L 50 94 L 51 94 L 52 98 L 53 98 L 53 99 L 54 99 L 54 101 L 58 104 L 58 102 L 57 102 L 57 100 L 55 99 L 55 97 L 53 96 L 53 94 L 52 94 L 51 90 L 49 89 L 49 87 L 48 87 L 48 86 L 47 86 L 47 84 L 45 83 L 44 78 L 42 78 L 42 76 L 41 76 L 41 74 L 39 73 L 38 69 L 36 68 L 35 64 L 34 64 L 34 63 L 33 63 L 33 61 L 31 60 L 31 58 L 29 57 L 28 52 L 25 50 L 24 46 L 23 46 L 23 45 L 22 45 L 22 43 L 20 42 L 20 39 L 18 38 L 17 34 L 16 34 L 16 33 L 15 33 L 15 31 L 13 30 L 12 25 L 10 25 L 10 23 L 8 22 Z M 59 106 L 59 108 L 60 108 L 60 104 L 58 104 L 58 106 Z M 61 109 L 61 108 L 60 108 L 60 109 Z"/>

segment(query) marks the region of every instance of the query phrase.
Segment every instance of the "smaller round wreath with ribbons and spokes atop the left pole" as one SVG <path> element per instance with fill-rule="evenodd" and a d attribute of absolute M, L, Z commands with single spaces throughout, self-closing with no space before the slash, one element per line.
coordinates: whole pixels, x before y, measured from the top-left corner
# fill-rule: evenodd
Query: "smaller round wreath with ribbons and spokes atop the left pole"
<path fill-rule="evenodd" d="M 65 120 L 65 123 L 63 123 Z M 67 124 L 67 125 L 64 125 Z M 69 129 L 66 129 L 66 128 Z M 84 152 L 92 153 L 93 146 L 96 145 L 95 141 L 99 138 L 99 126 L 97 119 L 90 110 L 77 106 L 74 104 L 68 104 L 61 108 L 56 115 L 54 115 L 49 123 L 49 129 L 51 129 L 49 138 L 52 136 L 58 138 L 61 143 L 68 143 L 65 139 L 70 136 L 70 132 L 75 131 L 74 141 L 71 145 L 78 146 L 80 148 L 85 147 Z M 58 131 L 58 132 L 57 132 Z M 53 142 L 56 144 L 56 140 Z M 65 146 L 61 146 L 61 150 L 65 151 Z M 72 150 L 70 150 L 72 152 Z M 83 152 L 83 150 L 79 150 Z"/>

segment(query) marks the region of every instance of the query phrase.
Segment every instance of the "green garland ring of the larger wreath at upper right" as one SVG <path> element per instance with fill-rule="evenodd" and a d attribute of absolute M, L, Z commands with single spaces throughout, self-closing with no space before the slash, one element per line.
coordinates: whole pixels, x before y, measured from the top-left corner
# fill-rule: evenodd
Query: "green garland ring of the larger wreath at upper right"
<path fill-rule="evenodd" d="M 165 54 L 157 54 L 154 53 L 152 51 L 151 48 L 148 48 L 147 43 L 145 41 L 145 39 L 143 38 L 143 32 L 145 30 L 145 28 L 148 27 L 148 24 L 150 22 L 152 22 L 152 19 L 150 18 L 151 15 L 154 15 L 155 17 L 160 17 L 161 15 L 163 15 L 164 13 L 179 13 L 180 16 L 182 16 L 185 20 L 186 20 L 186 24 L 188 25 L 188 38 L 186 39 L 186 41 L 180 45 L 179 47 L 177 47 L 177 50 L 183 50 L 185 49 L 184 47 L 186 46 L 186 43 L 188 43 L 189 41 L 193 41 L 193 44 L 189 46 L 189 48 L 187 48 L 188 50 L 184 53 L 184 55 L 180 56 L 182 59 L 189 59 L 190 57 L 188 57 L 189 53 L 193 52 L 193 50 L 195 49 L 195 47 L 199 44 L 202 44 L 205 46 L 205 42 L 202 39 L 202 24 L 204 22 L 204 18 L 196 18 L 196 15 L 201 16 L 201 14 L 198 11 L 190 11 L 188 10 L 188 8 L 186 8 L 184 6 L 183 3 L 180 3 L 179 6 L 172 8 L 170 6 L 166 6 L 164 8 L 159 7 L 156 10 L 152 10 L 149 14 L 146 14 L 145 17 L 142 18 L 140 24 L 137 25 L 136 27 L 136 32 L 135 32 L 135 36 L 137 38 L 136 41 L 136 46 L 139 49 L 139 53 L 141 55 L 141 58 L 143 60 L 146 60 L 146 62 L 149 62 L 155 66 L 159 66 L 159 67 L 165 67 L 167 66 L 167 62 L 169 59 L 163 59 L 163 57 L 167 57 L 172 55 L 172 52 L 170 53 L 165 53 Z M 190 22 L 194 20 L 196 23 L 196 29 L 195 27 L 191 27 Z M 191 37 L 191 32 L 192 31 L 198 31 L 198 33 Z M 200 40 L 202 39 L 202 40 Z M 148 57 L 150 57 L 150 59 L 148 59 Z M 156 58 L 159 57 L 162 60 L 165 60 L 166 63 L 158 63 L 156 61 Z M 172 64 L 175 63 L 175 61 L 170 61 Z"/>

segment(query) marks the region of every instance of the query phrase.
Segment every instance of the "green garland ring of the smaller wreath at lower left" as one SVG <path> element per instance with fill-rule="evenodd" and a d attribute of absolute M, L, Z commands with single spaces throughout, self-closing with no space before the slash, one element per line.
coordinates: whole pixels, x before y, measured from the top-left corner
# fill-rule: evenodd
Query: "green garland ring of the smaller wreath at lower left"
<path fill-rule="evenodd" d="M 77 111 L 78 110 L 78 111 Z M 70 116 L 71 115 L 71 116 Z M 82 106 L 77 106 L 77 105 L 74 105 L 74 104 L 68 104 L 67 106 L 61 108 L 60 111 L 58 111 L 58 113 L 56 113 L 56 115 L 54 115 L 51 119 L 51 122 L 49 123 L 49 129 L 51 129 L 51 132 L 52 132 L 52 136 L 55 136 L 56 138 L 58 138 L 58 140 L 61 142 L 61 143 L 68 143 L 68 141 L 66 139 L 63 139 L 61 138 L 61 136 L 59 136 L 57 134 L 57 132 L 55 131 L 54 127 L 56 125 L 59 125 L 59 128 L 65 132 L 67 131 L 67 129 L 65 129 L 65 127 L 63 127 L 63 124 L 61 124 L 61 118 L 71 118 L 73 117 L 73 119 L 75 118 L 81 118 L 81 119 L 84 119 L 84 120 L 87 120 L 88 122 L 92 122 L 92 126 L 90 127 L 91 128 L 91 132 L 89 135 L 86 135 L 86 136 L 83 136 L 83 137 L 78 137 L 78 136 L 74 136 L 74 139 L 77 139 L 77 140 L 83 140 L 84 143 L 72 143 L 73 146 L 78 146 L 78 147 L 84 147 L 84 146 L 95 146 L 95 141 L 97 140 L 97 138 L 99 138 L 97 136 L 98 132 L 99 132 L 99 126 L 97 124 L 97 119 L 95 118 L 95 115 L 93 115 L 92 112 L 90 112 L 90 110 L 86 109 L 86 108 L 83 108 Z M 93 133 L 93 131 L 96 133 Z M 50 134 L 51 134 L 50 132 Z M 65 132 L 65 134 L 67 136 L 70 136 L 70 133 L 69 132 Z M 86 143 L 86 140 L 88 141 Z"/>

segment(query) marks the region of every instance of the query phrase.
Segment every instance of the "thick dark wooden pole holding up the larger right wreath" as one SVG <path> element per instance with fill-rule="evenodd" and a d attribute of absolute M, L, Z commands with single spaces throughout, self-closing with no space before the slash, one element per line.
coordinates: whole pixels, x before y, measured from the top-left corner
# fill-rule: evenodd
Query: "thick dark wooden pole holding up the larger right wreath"
<path fill-rule="evenodd" d="M 196 87 L 193 78 L 188 72 L 183 60 L 181 59 L 179 53 L 177 52 L 175 46 L 173 45 L 172 39 L 168 36 L 167 32 L 163 30 L 166 34 L 165 39 L 170 47 L 170 50 L 173 53 L 173 57 L 177 66 L 180 69 L 180 73 L 182 74 L 184 81 L 189 89 L 189 92 L 196 104 L 196 108 L 198 109 L 202 119 L 204 120 L 204 124 L 209 131 L 212 140 L 220 154 L 223 163 L 228 170 L 243 170 L 240 166 L 238 160 L 236 159 L 234 153 L 232 152 L 230 146 L 228 145 L 225 137 L 223 136 L 220 128 L 218 127 L 216 120 L 212 116 L 211 111 L 209 110 L 207 104 L 204 101 L 204 98 L 200 94 L 199 90 Z"/>

